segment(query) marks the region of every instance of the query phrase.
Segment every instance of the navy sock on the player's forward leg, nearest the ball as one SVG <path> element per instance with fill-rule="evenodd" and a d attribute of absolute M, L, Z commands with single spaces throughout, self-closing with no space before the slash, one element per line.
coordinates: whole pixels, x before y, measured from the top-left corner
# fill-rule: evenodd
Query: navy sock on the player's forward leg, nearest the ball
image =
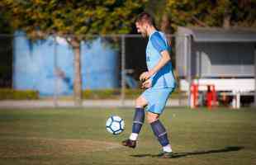
<path fill-rule="evenodd" d="M 136 108 L 135 116 L 133 119 L 133 125 L 132 125 L 132 133 L 136 133 L 136 134 L 140 133 L 140 129 L 144 123 L 144 120 L 145 120 L 144 108 Z"/>

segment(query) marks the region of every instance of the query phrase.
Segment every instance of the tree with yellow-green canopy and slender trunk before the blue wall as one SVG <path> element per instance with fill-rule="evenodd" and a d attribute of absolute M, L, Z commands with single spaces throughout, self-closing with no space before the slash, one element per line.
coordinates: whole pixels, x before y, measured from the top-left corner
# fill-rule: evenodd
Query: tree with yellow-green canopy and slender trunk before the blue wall
<path fill-rule="evenodd" d="M 146 0 L 2 0 L 14 30 L 31 39 L 63 36 L 74 54 L 74 102 L 81 106 L 80 42 L 88 35 L 125 34 Z"/>

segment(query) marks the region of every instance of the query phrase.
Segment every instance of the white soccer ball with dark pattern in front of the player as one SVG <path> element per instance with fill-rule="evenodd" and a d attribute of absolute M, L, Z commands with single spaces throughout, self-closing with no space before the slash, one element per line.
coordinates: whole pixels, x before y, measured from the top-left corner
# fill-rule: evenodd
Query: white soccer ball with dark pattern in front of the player
<path fill-rule="evenodd" d="M 106 129 L 111 134 L 121 134 L 125 130 L 125 121 L 118 115 L 112 115 L 107 119 Z"/>

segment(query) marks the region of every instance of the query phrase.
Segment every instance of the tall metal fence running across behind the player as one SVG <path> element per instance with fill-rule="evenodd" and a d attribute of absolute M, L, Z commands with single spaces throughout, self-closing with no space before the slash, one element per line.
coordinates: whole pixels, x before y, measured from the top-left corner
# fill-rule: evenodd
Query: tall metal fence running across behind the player
<path fill-rule="evenodd" d="M 125 105 L 127 100 L 138 97 L 142 92 L 139 87 L 140 73 L 147 70 L 145 49 L 148 39 L 141 35 L 85 36 L 77 36 L 90 39 L 80 42 L 83 99 L 116 100 Z M 21 32 L 0 35 L 0 87 L 38 91 L 40 98 L 50 98 L 55 106 L 58 106 L 58 101 L 72 101 L 74 56 L 67 40 L 69 37 L 59 36 L 29 40 Z M 178 82 L 176 91 L 170 97 L 177 101 L 174 105 L 191 105 L 191 97 L 188 96 L 192 96 L 189 88 L 192 83 L 200 82 L 200 78 L 205 78 L 208 81 L 206 83 L 216 82 L 218 78 L 223 80 L 223 73 L 231 80 L 244 78 L 240 75 L 248 75 L 246 78 L 249 80 L 245 78 L 243 81 L 252 84 L 249 91 L 254 90 L 253 45 L 196 43 L 191 35 L 168 35 L 168 41 L 172 45 L 170 53 Z M 243 50 L 244 48 L 246 49 Z M 222 60 L 225 55 L 234 54 L 234 49 L 244 55 L 236 55 L 236 59 L 232 60 Z M 228 72 L 232 67 L 236 67 L 232 69 L 235 72 Z M 229 81 L 230 79 L 226 82 Z M 223 82 L 218 80 L 217 83 Z M 230 93 L 232 90 L 234 91 L 230 89 Z M 202 95 L 205 93 L 206 90 L 199 93 L 201 96 L 197 101 L 201 105 L 204 99 Z M 235 98 L 230 93 L 225 97 Z M 218 97 L 223 97 L 219 95 L 221 93 L 217 94 Z M 251 93 L 249 95 L 252 96 Z M 228 104 L 231 104 L 230 101 Z"/>

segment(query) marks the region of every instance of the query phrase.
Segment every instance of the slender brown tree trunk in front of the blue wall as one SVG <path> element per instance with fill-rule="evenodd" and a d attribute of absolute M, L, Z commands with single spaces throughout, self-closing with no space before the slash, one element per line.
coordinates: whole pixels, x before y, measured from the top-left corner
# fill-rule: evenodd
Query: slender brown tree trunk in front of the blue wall
<path fill-rule="evenodd" d="M 73 101 L 74 101 L 74 106 L 82 106 L 80 43 L 78 40 L 72 40 L 71 45 L 73 47 L 73 55 L 74 55 Z"/>

